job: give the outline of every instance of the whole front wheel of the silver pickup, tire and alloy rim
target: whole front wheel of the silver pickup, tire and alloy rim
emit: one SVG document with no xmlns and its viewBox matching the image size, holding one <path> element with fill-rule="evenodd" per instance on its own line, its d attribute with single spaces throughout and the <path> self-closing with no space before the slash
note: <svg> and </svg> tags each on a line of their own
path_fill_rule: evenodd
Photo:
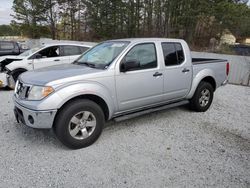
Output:
<svg viewBox="0 0 250 188">
<path fill-rule="evenodd" d="M 99 105 L 88 99 L 78 99 L 59 111 L 53 128 L 65 146 L 80 149 L 99 138 L 104 123 L 104 113 Z"/>
</svg>

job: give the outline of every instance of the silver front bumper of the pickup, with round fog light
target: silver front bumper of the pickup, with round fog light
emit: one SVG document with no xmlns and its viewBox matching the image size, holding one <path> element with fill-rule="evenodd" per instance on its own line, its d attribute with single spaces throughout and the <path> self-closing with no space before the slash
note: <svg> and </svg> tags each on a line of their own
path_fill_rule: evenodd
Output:
<svg viewBox="0 0 250 188">
<path fill-rule="evenodd" d="M 18 123 L 38 129 L 52 128 L 57 110 L 31 110 L 14 101 L 14 114 Z"/>
</svg>

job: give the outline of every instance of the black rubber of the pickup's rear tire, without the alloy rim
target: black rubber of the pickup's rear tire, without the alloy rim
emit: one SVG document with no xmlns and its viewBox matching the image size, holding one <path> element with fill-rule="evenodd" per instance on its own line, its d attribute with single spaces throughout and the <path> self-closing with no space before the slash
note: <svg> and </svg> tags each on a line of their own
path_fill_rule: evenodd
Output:
<svg viewBox="0 0 250 188">
<path fill-rule="evenodd" d="M 204 89 L 208 89 L 209 92 L 210 92 L 210 98 L 209 98 L 209 102 L 206 106 L 201 106 L 200 103 L 199 103 L 199 99 L 201 97 L 201 92 L 204 90 Z M 214 89 L 212 87 L 212 85 L 208 82 L 201 82 L 195 93 L 194 93 L 194 96 L 193 98 L 191 99 L 190 101 L 190 105 L 191 105 L 191 109 L 197 111 L 197 112 L 205 112 L 208 110 L 208 108 L 211 106 L 212 104 L 212 101 L 213 101 L 213 95 L 214 95 Z"/>
</svg>

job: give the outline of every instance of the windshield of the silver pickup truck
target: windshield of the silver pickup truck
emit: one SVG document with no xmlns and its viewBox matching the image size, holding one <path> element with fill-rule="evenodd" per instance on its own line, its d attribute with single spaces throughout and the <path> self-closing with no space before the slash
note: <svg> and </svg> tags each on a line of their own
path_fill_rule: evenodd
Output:
<svg viewBox="0 0 250 188">
<path fill-rule="evenodd" d="M 106 69 L 128 44 L 120 41 L 103 42 L 80 56 L 74 64 Z"/>
</svg>

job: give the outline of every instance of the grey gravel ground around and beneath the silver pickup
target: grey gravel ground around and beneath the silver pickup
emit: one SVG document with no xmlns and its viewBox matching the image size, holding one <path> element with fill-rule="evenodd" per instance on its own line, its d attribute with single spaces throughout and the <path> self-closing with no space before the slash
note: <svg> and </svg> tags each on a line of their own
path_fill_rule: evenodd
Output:
<svg viewBox="0 0 250 188">
<path fill-rule="evenodd" d="M 18 125 L 0 91 L 0 187 L 250 187 L 250 87 L 227 85 L 211 108 L 110 122 L 92 146 L 65 148 Z"/>
</svg>

